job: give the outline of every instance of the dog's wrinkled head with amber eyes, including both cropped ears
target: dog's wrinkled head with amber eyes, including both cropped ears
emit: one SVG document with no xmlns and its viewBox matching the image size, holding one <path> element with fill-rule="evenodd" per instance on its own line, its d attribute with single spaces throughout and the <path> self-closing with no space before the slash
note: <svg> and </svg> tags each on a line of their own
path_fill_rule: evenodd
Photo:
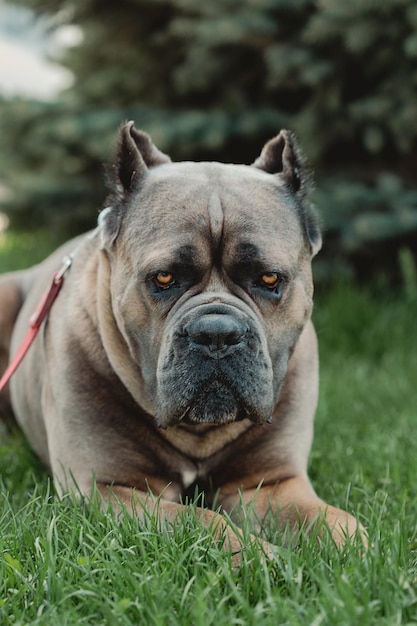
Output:
<svg viewBox="0 0 417 626">
<path fill-rule="evenodd" d="M 255 165 L 172 164 L 122 130 L 111 299 L 162 427 L 267 420 L 310 316 L 320 240 L 290 136 Z"/>
</svg>

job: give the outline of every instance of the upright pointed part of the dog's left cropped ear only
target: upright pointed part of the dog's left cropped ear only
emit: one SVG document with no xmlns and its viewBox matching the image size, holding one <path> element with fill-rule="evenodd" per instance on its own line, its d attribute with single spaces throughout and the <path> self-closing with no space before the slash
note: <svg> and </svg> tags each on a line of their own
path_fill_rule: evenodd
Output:
<svg viewBox="0 0 417 626">
<path fill-rule="evenodd" d="M 133 122 L 126 122 L 120 128 L 114 175 L 116 185 L 124 192 L 131 192 L 136 182 L 149 167 L 169 163 L 171 159 L 160 152 L 147 133 L 136 130 Z"/>
</svg>

